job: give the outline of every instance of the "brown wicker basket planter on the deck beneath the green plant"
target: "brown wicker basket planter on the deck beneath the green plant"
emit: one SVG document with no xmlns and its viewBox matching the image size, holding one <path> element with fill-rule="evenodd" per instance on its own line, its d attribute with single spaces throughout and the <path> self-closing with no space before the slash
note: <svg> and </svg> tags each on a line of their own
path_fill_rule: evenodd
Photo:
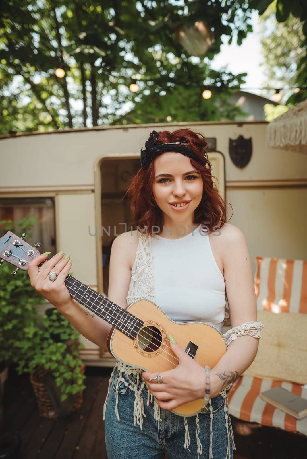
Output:
<svg viewBox="0 0 307 459">
<path fill-rule="evenodd" d="M 80 373 L 83 375 L 84 371 L 85 365 L 82 365 Z M 71 395 L 68 397 L 68 401 L 61 402 L 58 396 L 59 394 L 56 393 L 55 398 L 52 397 L 50 391 L 47 390 L 44 382 L 46 376 L 49 377 L 49 380 L 52 380 L 51 373 L 42 367 L 37 367 L 33 373 L 30 373 L 30 381 L 34 389 L 40 416 L 48 419 L 57 419 L 74 413 L 74 411 L 80 408 L 83 400 L 83 391 Z M 61 406 L 61 409 L 58 408 L 59 406 Z"/>
</svg>

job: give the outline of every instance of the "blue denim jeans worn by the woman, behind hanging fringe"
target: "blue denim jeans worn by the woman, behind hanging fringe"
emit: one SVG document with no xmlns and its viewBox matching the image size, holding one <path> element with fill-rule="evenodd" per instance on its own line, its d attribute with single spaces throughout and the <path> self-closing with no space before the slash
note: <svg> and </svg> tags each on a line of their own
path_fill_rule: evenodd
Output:
<svg viewBox="0 0 307 459">
<path fill-rule="evenodd" d="M 129 382 L 124 373 L 123 378 Z M 135 394 L 125 386 L 124 382 L 118 387 L 118 411 L 120 421 L 115 414 L 115 388 L 119 378 L 116 369 L 112 378 L 105 418 L 105 442 L 108 459 L 163 459 L 165 452 L 171 459 L 206 458 L 209 459 L 210 448 L 210 413 L 199 413 L 199 440 L 203 450 L 197 453 L 196 416 L 187 417 L 190 436 L 189 450 L 184 448 L 185 425 L 184 417 L 178 416 L 169 410 L 160 409 L 160 421 L 153 417 L 153 403 L 147 406 L 148 389 L 142 390 L 144 416 L 142 430 L 134 425 L 133 409 Z M 130 380 L 136 383 L 136 375 L 130 375 Z M 139 386 L 142 381 L 140 381 Z M 140 388 L 138 386 L 138 388 Z M 212 454 L 213 459 L 225 459 L 227 452 L 227 430 L 230 438 L 230 448 L 227 459 L 233 459 L 233 447 L 230 437 L 229 415 L 224 412 L 224 398 L 221 395 L 211 399 L 212 414 Z M 225 421 L 228 417 L 228 428 Z"/>
</svg>

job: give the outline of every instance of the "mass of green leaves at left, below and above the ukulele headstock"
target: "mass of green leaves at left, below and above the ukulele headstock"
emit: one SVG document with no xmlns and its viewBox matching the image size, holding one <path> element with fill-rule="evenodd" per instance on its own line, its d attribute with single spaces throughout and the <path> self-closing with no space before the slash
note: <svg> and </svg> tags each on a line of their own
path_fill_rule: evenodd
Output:
<svg viewBox="0 0 307 459">
<path fill-rule="evenodd" d="M 4 229 L 17 234 L 20 229 L 27 229 L 28 235 L 34 223 L 35 220 L 25 218 L 17 222 L 17 229 L 11 221 L 0 222 Z M 1 361 L 15 364 L 18 374 L 31 373 L 36 367 L 51 371 L 65 394 L 83 390 L 85 376 L 80 374 L 83 362 L 79 350 L 84 345 L 79 342 L 79 333 L 56 308 L 51 309 L 50 317 L 44 314 L 41 319 L 34 304 L 44 304 L 45 298 L 31 286 L 27 271 L 18 271 L 18 277 L 12 277 L 11 271 L 11 265 L 3 263 L 0 276 Z"/>
</svg>

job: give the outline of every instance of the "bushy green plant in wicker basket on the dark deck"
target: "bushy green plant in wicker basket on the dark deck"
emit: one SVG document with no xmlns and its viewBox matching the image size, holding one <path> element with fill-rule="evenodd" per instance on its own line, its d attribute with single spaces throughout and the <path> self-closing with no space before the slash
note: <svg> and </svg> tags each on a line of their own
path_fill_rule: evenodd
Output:
<svg viewBox="0 0 307 459">
<path fill-rule="evenodd" d="M 25 339 L 17 342 L 20 348 L 17 372 L 30 373 L 30 381 L 39 405 L 40 415 L 63 417 L 82 403 L 85 389 L 84 370 L 79 350 L 79 333 L 65 317 L 51 308 L 36 323 L 25 329 Z M 49 313 L 51 312 L 51 313 Z"/>
</svg>

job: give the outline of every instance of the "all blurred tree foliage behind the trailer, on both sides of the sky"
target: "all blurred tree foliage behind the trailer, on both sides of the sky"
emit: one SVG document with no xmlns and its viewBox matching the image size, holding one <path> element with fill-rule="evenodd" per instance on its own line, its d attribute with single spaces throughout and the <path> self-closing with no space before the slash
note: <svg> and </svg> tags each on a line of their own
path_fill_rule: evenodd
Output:
<svg viewBox="0 0 307 459">
<path fill-rule="evenodd" d="M 244 83 L 246 73 L 218 72 L 210 68 L 210 61 L 220 51 L 222 35 L 229 43 L 236 40 L 240 45 L 252 32 L 252 11 L 262 15 L 271 3 L 2 0 L 0 134 L 109 124 L 234 120 L 242 112 L 228 102 L 228 97 Z M 292 77 L 296 85 L 306 87 L 304 2 L 275 0 L 266 14 L 275 22 L 284 22 L 287 30 L 295 29 L 301 52 L 294 59 Z M 205 22 L 212 38 L 202 56 L 189 54 L 178 40 L 178 30 L 197 21 Z M 295 24 L 290 25 L 293 21 L 299 23 L 297 30 Z M 275 53 L 273 61 L 278 67 L 281 62 L 276 41 L 281 41 L 279 33 L 270 35 L 265 46 L 267 56 Z M 289 39 L 286 51 L 283 43 L 281 46 L 284 65 L 289 67 L 292 58 L 288 50 L 293 44 Z M 64 78 L 56 76 L 57 68 L 63 68 Z M 134 79 L 139 85 L 136 93 L 129 89 Z M 214 91 L 210 100 L 204 101 L 201 95 L 207 85 L 214 86 Z M 300 91 L 290 96 L 290 102 L 304 98 L 306 91 Z"/>
</svg>

